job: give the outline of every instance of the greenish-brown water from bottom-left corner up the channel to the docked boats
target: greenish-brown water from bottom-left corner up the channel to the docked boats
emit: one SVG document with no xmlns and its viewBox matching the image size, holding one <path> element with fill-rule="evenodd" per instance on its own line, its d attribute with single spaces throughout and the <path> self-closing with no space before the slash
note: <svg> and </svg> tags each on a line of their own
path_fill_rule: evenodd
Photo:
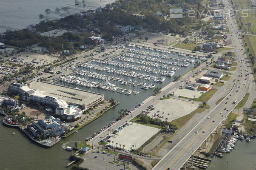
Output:
<svg viewBox="0 0 256 170">
<path fill-rule="evenodd" d="M 174 55 L 174 54 L 173 54 Z M 175 76 L 184 74 L 193 67 L 190 64 L 187 68 L 181 68 L 176 72 Z M 159 76 L 160 77 L 160 76 Z M 163 83 L 155 83 L 156 87 L 164 87 L 173 81 L 173 78 L 167 78 Z M 81 88 L 81 87 L 80 87 Z M 116 92 L 105 91 L 97 88 L 88 88 L 87 90 L 105 94 L 105 98 L 112 97 L 120 102 L 115 108 L 107 111 L 99 119 L 94 120 L 87 126 L 74 133 L 67 139 L 54 145 L 52 148 L 43 148 L 34 144 L 27 136 L 16 128 L 6 127 L 1 123 L 0 125 L 0 170 L 63 170 L 68 163 L 68 157 L 73 152 L 68 152 L 63 149 L 63 144 L 70 142 L 67 146 L 74 146 L 75 141 L 82 141 L 88 136 L 91 136 L 95 131 L 102 128 L 108 122 L 116 119 L 118 111 L 123 109 L 130 109 L 137 103 L 142 102 L 153 94 L 153 89 L 141 90 L 141 93 L 129 96 L 118 94 Z M 3 117 L 0 116 L 0 119 Z M 2 122 L 2 121 L 1 121 Z M 11 135 L 15 132 L 16 135 Z"/>
</svg>

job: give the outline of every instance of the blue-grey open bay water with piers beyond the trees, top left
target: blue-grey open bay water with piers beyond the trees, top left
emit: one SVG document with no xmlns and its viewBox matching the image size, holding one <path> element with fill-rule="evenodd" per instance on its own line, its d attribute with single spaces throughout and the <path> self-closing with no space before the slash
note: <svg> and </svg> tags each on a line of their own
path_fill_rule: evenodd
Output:
<svg viewBox="0 0 256 170">
<path fill-rule="evenodd" d="M 100 0 L 86 1 L 100 2 Z M 74 5 L 74 0 L 0 0 L 0 26 L 26 28 L 43 20 L 38 17 L 39 14 L 60 18 L 57 14 L 46 14 L 45 9 L 50 8 L 54 11 L 56 7 L 63 7 L 66 4 Z M 6 28 L 0 27 L 0 32 L 5 31 Z"/>
</svg>

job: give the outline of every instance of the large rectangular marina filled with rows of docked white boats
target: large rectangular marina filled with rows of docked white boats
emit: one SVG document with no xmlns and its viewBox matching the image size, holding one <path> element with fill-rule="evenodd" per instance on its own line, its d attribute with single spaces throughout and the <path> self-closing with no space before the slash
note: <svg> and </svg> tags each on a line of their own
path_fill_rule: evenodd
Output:
<svg viewBox="0 0 256 170">
<path fill-rule="evenodd" d="M 195 61 L 201 59 L 193 55 L 131 44 L 123 52 L 108 61 L 92 59 L 77 68 L 71 68 L 75 73 L 61 77 L 57 84 L 88 91 L 94 91 L 94 88 L 137 95 L 159 87 L 165 81 L 171 82 L 171 78 L 174 79 L 184 70 L 194 67 Z"/>
</svg>

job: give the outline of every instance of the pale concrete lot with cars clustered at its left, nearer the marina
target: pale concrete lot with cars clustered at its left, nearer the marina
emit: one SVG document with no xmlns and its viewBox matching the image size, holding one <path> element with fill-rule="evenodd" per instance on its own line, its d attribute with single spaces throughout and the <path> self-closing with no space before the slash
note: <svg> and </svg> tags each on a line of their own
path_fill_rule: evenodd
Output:
<svg viewBox="0 0 256 170">
<path fill-rule="evenodd" d="M 158 114 L 159 116 L 163 116 L 163 118 L 159 117 L 159 119 L 165 120 L 167 118 L 167 121 L 171 122 L 174 119 L 191 113 L 198 108 L 198 104 L 171 98 L 157 101 L 154 103 L 154 108 L 155 110 L 148 113 L 148 116 L 152 117 L 154 113 L 160 110 Z M 168 115 L 168 113 L 170 114 Z M 157 118 L 157 116 L 153 118 Z"/>
</svg>

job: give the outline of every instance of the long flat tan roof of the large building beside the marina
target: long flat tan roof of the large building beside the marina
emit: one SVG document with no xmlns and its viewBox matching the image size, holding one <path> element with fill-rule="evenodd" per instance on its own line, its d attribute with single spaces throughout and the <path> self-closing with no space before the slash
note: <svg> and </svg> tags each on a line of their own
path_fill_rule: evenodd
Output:
<svg viewBox="0 0 256 170">
<path fill-rule="evenodd" d="M 34 89 L 38 94 L 53 96 L 55 98 L 60 98 L 65 102 L 78 105 L 87 105 L 88 103 L 102 97 L 102 94 L 74 89 L 48 82 L 34 81 L 30 83 L 29 87 Z"/>
</svg>

